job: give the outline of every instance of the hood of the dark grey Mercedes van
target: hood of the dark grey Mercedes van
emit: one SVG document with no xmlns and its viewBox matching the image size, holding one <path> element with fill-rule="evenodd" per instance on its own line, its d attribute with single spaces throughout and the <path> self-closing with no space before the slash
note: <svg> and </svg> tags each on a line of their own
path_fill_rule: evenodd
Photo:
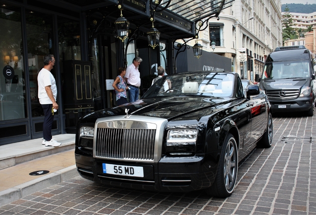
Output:
<svg viewBox="0 0 316 215">
<path fill-rule="evenodd" d="M 276 79 L 276 80 L 264 80 L 260 82 L 260 88 L 266 91 L 270 90 L 299 90 L 309 80 L 305 78 L 300 79 Z"/>
</svg>

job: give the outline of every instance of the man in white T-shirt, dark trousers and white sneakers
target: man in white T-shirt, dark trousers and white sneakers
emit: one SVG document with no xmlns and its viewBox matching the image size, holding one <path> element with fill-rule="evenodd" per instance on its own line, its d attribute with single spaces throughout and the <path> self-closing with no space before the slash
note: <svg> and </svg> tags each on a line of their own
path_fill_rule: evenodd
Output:
<svg viewBox="0 0 316 215">
<path fill-rule="evenodd" d="M 52 124 L 54 112 L 58 110 L 57 87 L 54 76 L 51 73 L 55 65 L 54 55 L 48 54 L 44 57 L 44 67 L 38 73 L 38 99 L 44 110 L 43 142 L 45 146 L 60 146 L 61 143 L 52 138 Z"/>
</svg>

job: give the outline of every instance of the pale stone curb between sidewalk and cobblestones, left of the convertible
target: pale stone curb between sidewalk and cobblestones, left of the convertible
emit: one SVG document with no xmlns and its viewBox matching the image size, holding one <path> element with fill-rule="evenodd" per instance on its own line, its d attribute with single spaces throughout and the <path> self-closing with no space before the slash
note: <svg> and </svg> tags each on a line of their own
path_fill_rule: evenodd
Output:
<svg viewBox="0 0 316 215">
<path fill-rule="evenodd" d="M 0 207 L 52 185 L 79 176 L 76 164 L 0 192 Z"/>
</svg>

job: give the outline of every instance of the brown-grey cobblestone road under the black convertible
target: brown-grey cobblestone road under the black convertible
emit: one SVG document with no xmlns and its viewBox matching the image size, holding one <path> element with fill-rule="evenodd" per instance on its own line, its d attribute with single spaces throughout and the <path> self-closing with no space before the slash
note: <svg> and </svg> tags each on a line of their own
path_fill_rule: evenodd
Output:
<svg viewBox="0 0 316 215">
<path fill-rule="evenodd" d="M 274 117 L 272 147 L 256 148 L 239 163 L 236 190 L 226 199 L 208 197 L 203 191 L 121 189 L 76 177 L 5 205 L 0 214 L 316 215 L 313 118 Z"/>
</svg>

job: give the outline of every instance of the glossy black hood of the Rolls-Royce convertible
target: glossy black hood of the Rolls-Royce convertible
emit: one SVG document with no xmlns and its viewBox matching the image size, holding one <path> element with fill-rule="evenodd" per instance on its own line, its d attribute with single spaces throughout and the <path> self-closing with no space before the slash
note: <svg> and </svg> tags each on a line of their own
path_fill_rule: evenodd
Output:
<svg viewBox="0 0 316 215">
<path fill-rule="evenodd" d="M 191 119 L 197 119 L 197 112 L 199 110 L 204 110 L 214 112 L 219 111 L 232 102 L 231 99 L 223 98 L 210 98 L 210 97 L 156 97 L 153 99 L 138 100 L 134 103 L 127 103 L 122 106 L 115 108 L 107 108 L 98 110 L 80 118 L 80 123 L 95 122 L 96 119 L 106 116 L 115 115 L 126 115 L 126 110 L 128 114 L 131 115 L 143 115 L 143 116 L 153 116 L 159 118 L 165 118 L 172 120 L 174 118 L 180 119 L 181 117 L 192 117 Z M 205 112 L 204 112 L 205 114 Z"/>
</svg>

